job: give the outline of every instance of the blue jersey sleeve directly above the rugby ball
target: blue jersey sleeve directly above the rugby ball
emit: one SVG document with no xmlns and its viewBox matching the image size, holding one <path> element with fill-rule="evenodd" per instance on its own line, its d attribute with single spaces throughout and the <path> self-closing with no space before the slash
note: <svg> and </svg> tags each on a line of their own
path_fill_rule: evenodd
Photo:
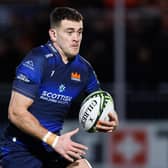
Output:
<svg viewBox="0 0 168 168">
<path fill-rule="evenodd" d="M 91 93 L 96 90 L 100 89 L 100 83 L 97 79 L 97 75 L 94 71 L 94 69 L 89 66 L 89 73 L 88 73 L 88 81 L 87 81 L 87 87 L 86 87 L 86 92 Z"/>
</svg>

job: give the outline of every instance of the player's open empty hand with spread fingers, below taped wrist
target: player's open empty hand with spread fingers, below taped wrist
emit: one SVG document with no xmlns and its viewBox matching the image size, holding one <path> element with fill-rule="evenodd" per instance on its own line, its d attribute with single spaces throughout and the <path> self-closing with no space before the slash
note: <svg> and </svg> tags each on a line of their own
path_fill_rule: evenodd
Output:
<svg viewBox="0 0 168 168">
<path fill-rule="evenodd" d="M 85 151 L 88 149 L 86 146 L 71 140 L 71 137 L 78 131 L 79 128 L 76 128 L 73 131 L 61 135 L 54 148 L 56 152 L 71 162 L 76 159 L 81 159 L 81 155 L 84 155 Z"/>
</svg>

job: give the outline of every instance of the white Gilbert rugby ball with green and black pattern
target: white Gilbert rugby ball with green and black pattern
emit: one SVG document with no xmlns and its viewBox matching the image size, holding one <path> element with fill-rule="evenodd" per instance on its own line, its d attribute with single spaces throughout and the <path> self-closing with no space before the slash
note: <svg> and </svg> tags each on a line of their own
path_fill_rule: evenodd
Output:
<svg viewBox="0 0 168 168">
<path fill-rule="evenodd" d="M 87 132 L 98 132 L 99 120 L 109 120 L 108 113 L 114 111 L 113 98 L 107 91 L 98 90 L 89 94 L 81 103 L 79 125 Z"/>
</svg>

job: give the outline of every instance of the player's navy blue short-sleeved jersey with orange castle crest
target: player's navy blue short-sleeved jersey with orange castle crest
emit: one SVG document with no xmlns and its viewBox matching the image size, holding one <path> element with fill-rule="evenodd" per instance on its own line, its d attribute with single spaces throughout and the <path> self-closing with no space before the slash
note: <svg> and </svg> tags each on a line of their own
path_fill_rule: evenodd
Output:
<svg viewBox="0 0 168 168">
<path fill-rule="evenodd" d="M 29 111 L 52 132 L 81 92 L 99 89 L 91 65 L 80 55 L 65 64 L 51 42 L 34 48 L 16 68 L 13 90 L 34 100 Z"/>
</svg>

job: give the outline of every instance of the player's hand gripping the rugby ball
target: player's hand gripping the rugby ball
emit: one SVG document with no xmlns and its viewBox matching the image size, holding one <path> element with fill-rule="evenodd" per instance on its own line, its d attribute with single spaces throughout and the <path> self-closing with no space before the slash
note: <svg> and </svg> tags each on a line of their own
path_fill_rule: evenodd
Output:
<svg viewBox="0 0 168 168">
<path fill-rule="evenodd" d="M 119 121 L 116 112 L 110 112 L 109 114 L 109 121 L 102 121 L 99 120 L 96 129 L 100 132 L 113 132 L 116 130 Z"/>
</svg>

